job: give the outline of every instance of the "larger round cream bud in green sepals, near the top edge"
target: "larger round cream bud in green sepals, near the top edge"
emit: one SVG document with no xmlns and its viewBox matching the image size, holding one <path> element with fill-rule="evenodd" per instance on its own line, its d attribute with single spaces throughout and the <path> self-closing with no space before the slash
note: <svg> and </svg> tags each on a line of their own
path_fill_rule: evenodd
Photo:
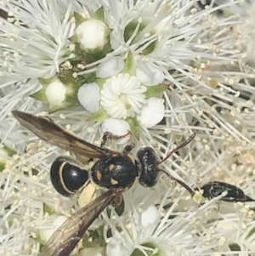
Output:
<svg viewBox="0 0 255 256">
<path fill-rule="evenodd" d="M 103 48 L 108 43 L 109 28 L 101 20 L 90 18 L 77 26 L 75 35 L 82 48 L 91 53 L 97 48 Z"/>
</svg>

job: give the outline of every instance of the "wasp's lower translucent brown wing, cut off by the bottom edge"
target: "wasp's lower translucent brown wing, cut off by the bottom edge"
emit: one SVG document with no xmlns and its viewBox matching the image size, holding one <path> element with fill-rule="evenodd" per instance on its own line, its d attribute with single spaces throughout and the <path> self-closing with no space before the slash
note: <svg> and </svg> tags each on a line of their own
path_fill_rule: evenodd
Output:
<svg viewBox="0 0 255 256">
<path fill-rule="evenodd" d="M 38 256 L 68 256 L 80 241 L 84 232 L 100 213 L 113 202 L 121 192 L 112 190 L 99 196 L 87 206 L 73 214 L 49 238 Z"/>
</svg>

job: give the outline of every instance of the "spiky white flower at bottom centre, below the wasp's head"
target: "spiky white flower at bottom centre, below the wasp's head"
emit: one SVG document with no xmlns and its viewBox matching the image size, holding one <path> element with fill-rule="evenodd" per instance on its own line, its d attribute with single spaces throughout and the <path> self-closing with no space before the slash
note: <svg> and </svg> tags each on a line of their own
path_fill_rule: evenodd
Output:
<svg viewBox="0 0 255 256">
<path fill-rule="evenodd" d="M 117 220 L 117 228 L 111 228 L 113 236 L 106 247 L 107 256 L 130 256 L 134 251 L 137 255 L 155 253 L 161 256 L 203 255 L 210 251 L 210 246 L 206 244 L 207 237 L 199 236 L 196 232 L 200 232 L 199 225 L 202 225 L 202 218 L 205 218 L 212 202 L 207 203 L 203 208 L 196 208 L 196 212 L 188 209 L 186 213 L 175 214 L 176 211 L 178 212 L 178 204 L 181 204 L 178 196 L 170 200 L 171 206 L 165 212 L 163 207 L 169 196 L 168 192 L 161 199 L 158 208 L 155 205 L 144 206 L 145 202 L 150 202 L 150 193 L 148 197 L 144 197 L 144 202 L 140 202 L 139 206 L 135 205 L 133 197 L 125 197 L 125 206 L 128 206 L 129 213 L 121 217 L 112 216 L 112 219 Z M 186 200 L 184 204 L 190 207 Z M 197 230 L 194 221 L 198 225 Z M 215 241 L 217 241 L 216 236 L 211 239 L 211 242 Z"/>
</svg>

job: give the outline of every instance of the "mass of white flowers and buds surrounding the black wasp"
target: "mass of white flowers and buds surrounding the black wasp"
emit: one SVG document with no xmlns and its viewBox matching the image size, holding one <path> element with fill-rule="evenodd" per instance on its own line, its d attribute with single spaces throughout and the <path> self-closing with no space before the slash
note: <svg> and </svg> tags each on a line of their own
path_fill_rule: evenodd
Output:
<svg viewBox="0 0 255 256">
<path fill-rule="evenodd" d="M 161 168 L 192 188 L 223 180 L 255 198 L 254 8 L 248 0 L 3 0 L 0 254 L 37 255 L 81 208 L 49 181 L 63 151 L 37 143 L 14 109 L 43 111 L 95 145 L 110 131 L 122 137 L 111 147 L 134 142 L 134 156 L 151 146 L 164 157 L 196 132 Z M 153 188 L 134 185 L 124 209 L 102 213 L 75 253 L 254 253 L 249 205 L 215 210 L 220 196 L 198 205 L 201 195 L 194 202 L 184 193 L 163 174 Z"/>
</svg>

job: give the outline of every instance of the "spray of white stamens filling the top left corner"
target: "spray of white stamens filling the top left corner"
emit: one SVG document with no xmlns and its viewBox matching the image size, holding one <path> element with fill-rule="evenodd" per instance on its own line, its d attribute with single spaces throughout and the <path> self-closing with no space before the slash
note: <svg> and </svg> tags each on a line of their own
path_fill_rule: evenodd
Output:
<svg viewBox="0 0 255 256">
<path fill-rule="evenodd" d="M 13 26 L 12 20 L 2 20 L 0 29 L 1 32 L 6 31 L 0 45 L 5 56 L 9 56 L 1 69 L 6 77 L 4 82 L 53 77 L 59 71 L 59 65 L 70 59 L 68 38 L 75 26 L 73 20 L 69 20 L 71 5 L 52 3 L 49 6 L 48 9 L 48 5 L 37 1 L 26 2 L 26 9 L 22 9 L 22 4 L 20 9 L 13 3 L 5 6 L 7 12 L 12 9 L 16 21 Z M 34 14 L 37 14 L 37 19 Z"/>
</svg>

